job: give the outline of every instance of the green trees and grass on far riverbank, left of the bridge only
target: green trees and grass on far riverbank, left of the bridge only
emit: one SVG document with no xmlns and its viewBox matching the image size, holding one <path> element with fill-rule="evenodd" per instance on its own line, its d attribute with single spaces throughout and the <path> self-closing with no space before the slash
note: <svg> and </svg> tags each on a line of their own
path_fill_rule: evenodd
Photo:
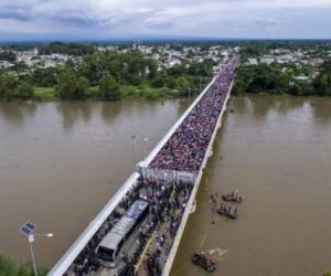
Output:
<svg viewBox="0 0 331 276">
<path fill-rule="evenodd" d="M 67 53 L 75 46 L 53 43 L 45 51 Z M 214 65 L 213 61 L 205 60 L 158 71 L 157 62 L 139 52 L 89 53 L 90 46 L 77 47 L 87 53 L 82 62 L 68 60 L 64 66 L 35 70 L 20 77 L 0 72 L 0 99 L 119 100 L 124 97 L 186 96 L 189 88 L 192 94 L 203 88 L 211 79 Z"/>
</svg>

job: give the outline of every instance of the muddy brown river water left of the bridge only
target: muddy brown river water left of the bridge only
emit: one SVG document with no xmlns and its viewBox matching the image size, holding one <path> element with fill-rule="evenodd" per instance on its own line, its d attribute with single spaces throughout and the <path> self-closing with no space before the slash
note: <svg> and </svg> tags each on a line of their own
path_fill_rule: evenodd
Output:
<svg viewBox="0 0 331 276">
<path fill-rule="evenodd" d="M 184 112 L 186 100 L 0 103 L 0 252 L 52 265 Z M 130 136 L 137 136 L 132 150 Z"/>
</svg>

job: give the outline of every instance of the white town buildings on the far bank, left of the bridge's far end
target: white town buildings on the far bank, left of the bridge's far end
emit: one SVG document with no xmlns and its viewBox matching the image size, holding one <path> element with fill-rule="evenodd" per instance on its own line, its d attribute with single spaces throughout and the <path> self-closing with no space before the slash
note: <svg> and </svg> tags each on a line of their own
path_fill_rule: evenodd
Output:
<svg viewBox="0 0 331 276">
<path fill-rule="evenodd" d="M 49 68 L 63 66 L 65 62 L 72 60 L 76 63 L 83 61 L 79 55 L 62 54 L 62 53 L 41 53 L 39 46 L 29 49 L 26 45 L 25 51 L 13 50 L 11 46 L 0 47 L 0 67 L 8 70 L 13 75 L 26 75 L 34 70 Z M 141 42 L 134 42 L 132 44 L 125 45 L 92 45 L 93 52 L 140 52 L 148 59 L 153 59 L 158 62 L 158 71 L 163 68 L 171 68 L 175 65 L 186 64 L 194 62 L 203 62 L 210 59 L 215 63 L 221 62 L 224 57 L 234 52 L 238 52 L 239 47 L 227 47 L 222 45 L 216 46 L 194 46 L 181 44 L 164 44 L 164 45 L 148 45 Z M 216 71 L 217 67 L 214 67 Z"/>
</svg>

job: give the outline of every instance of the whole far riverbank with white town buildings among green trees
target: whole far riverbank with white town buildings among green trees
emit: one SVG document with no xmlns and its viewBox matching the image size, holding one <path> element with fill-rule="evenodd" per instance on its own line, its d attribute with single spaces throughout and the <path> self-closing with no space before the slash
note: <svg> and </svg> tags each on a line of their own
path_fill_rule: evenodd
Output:
<svg viewBox="0 0 331 276">
<path fill-rule="evenodd" d="M 132 96 L 194 95 L 220 70 L 220 64 L 236 53 L 241 54 L 242 63 L 235 93 L 330 94 L 329 85 L 321 88 L 323 64 L 331 59 L 328 42 L 151 43 L 138 40 L 125 44 L 2 45 L 0 76 L 12 75 L 18 78 L 18 85 L 13 89 L 17 92 L 10 93 L 2 87 L 0 97 L 118 100 Z M 105 85 L 100 85 L 105 75 L 110 75 L 110 81 L 103 79 Z M 256 86 L 257 76 L 264 76 L 265 82 Z M 109 83 L 113 84 L 109 93 L 100 88 Z"/>
</svg>

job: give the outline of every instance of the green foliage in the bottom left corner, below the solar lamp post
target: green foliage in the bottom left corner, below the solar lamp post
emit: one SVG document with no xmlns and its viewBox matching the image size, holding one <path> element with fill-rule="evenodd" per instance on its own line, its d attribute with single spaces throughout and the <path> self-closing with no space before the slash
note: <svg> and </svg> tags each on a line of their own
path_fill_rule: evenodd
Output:
<svg viewBox="0 0 331 276">
<path fill-rule="evenodd" d="M 46 276 L 47 269 L 38 268 L 38 275 Z M 17 265 L 8 257 L 0 255 L 0 275 L 1 276 L 33 276 L 32 267 L 28 265 Z"/>
</svg>

